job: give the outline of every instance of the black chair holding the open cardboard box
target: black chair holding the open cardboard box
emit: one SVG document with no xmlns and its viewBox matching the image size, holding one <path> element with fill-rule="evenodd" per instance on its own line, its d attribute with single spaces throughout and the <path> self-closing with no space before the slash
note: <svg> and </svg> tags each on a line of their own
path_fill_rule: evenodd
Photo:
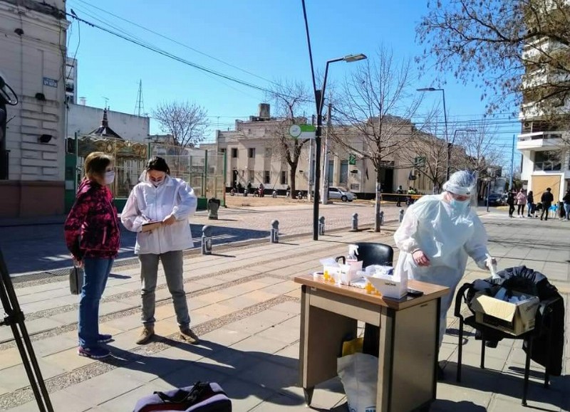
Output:
<svg viewBox="0 0 570 412">
<path fill-rule="evenodd" d="M 506 332 L 502 332 L 498 329 L 494 329 L 492 327 L 488 327 L 485 324 L 481 324 L 475 321 L 475 315 L 470 315 L 468 317 L 463 317 L 461 314 L 461 303 L 467 303 L 467 292 L 471 289 L 472 283 L 465 283 L 460 287 L 455 295 L 455 317 L 459 318 L 459 348 L 457 350 L 457 382 L 461 381 L 461 367 L 462 367 L 462 356 L 463 356 L 463 329 L 465 325 L 476 329 L 481 337 L 481 369 L 484 369 L 485 364 L 485 346 L 487 342 L 493 342 L 500 339 L 519 339 L 523 340 L 525 343 L 525 347 L 527 348 L 527 358 L 524 363 L 524 381 L 523 381 L 523 391 L 522 391 L 522 406 L 527 406 L 527 392 L 529 389 L 529 371 L 530 371 L 530 354 L 532 352 L 532 343 L 534 339 L 538 337 L 544 336 L 545 333 L 548 334 L 548 346 L 551 346 L 551 339 L 552 339 L 552 328 L 546 327 L 547 324 L 551 324 L 551 319 L 549 317 L 552 316 L 552 305 L 554 302 L 559 300 L 558 297 L 550 299 L 550 300 L 543 300 L 540 302 L 539 310 L 537 310 L 537 314 L 541 314 L 540 316 L 537 315 L 537 324 L 535 324 L 534 329 L 529 330 L 529 332 L 525 332 L 524 334 L 520 334 L 518 336 L 514 336 L 512 334 L 508 334 Z M 550 365 L 550 356 L 549 353 L 546 354 L 546 365 Z M 546 371 L 544 373 L 544 388 L 548 388 L 549 386 L 549 368 L 546 367 Z"/>
</svg>

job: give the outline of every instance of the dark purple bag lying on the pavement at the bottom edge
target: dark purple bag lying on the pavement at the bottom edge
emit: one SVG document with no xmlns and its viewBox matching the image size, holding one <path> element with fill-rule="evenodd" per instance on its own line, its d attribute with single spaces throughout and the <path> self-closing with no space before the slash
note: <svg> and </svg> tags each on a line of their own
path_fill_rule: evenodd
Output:
<svg viewBox="0 0 570 412">
<path fill-rule="evenodd" d="M 134 412 L 232 412 L 232 401 L 215 383 L 197 382 L 172 391 L 155 392 L 139 399 Z"/>
</svg>

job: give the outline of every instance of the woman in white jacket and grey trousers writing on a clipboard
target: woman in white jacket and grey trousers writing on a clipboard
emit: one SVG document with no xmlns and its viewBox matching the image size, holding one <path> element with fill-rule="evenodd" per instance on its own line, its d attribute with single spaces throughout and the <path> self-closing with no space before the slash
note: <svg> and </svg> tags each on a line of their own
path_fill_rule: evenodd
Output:
<svg viewBox="0 0 570 412">
<path fill-rule="evenodd" d="M 188 218 L 196 211 L 196 206 L 197 199 L 190 185 L 171 177 L 170 168 L 162 157 L 149 160 L 145 173 L 140 176 L 140 183 L 130 192 L 121 221 L 125 228 L 137 233 L 135 253 L 140 261 L 143 325 L 137 344 L 145 344 L 155 334 L 159 260 L 172 295 L 180 337 L 190 343 L 199 340 L 190 329 L 182 276 L 182 250 L 193 245 Z M 147 230 L 149 228 L 152 230 Z"/>
</svg>

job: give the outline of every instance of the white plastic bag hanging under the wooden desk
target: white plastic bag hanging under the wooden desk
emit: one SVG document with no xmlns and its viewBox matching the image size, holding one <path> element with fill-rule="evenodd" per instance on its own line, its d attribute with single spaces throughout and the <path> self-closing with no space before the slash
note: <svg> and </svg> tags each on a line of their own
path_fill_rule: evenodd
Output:
<svg viewBox="0 0 570 412">
<path fill-rule="evenodd" d="M 338 358 L 336 371 L 344 386 L 351 412 L 376 412 L 378 358 L 368 354 L 351 354 Z"/>
</svg>

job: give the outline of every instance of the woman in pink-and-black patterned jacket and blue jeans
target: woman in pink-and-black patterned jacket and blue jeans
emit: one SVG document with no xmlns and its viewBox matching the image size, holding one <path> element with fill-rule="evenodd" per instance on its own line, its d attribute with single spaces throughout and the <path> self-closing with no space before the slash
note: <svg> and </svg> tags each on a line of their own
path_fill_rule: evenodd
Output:
<svg viewBox="0 0 570 412">
<path fill-rule="evenodd" d="M 113 337 L 99 333 L 99 302 L 120 247 L 117 210 L 107 187 L 115 180 L 115 169 L 113 157 L 103 152 L 90 153 L 83 167 L 85 179 L 78 187 L 64 232 L 73 265 L 83 267 L 84 271 L 77 352 L 80 356 L 102 359 L 109 356 L 110 351 L 101 344 L 110 342 Z"/>
</svg>

